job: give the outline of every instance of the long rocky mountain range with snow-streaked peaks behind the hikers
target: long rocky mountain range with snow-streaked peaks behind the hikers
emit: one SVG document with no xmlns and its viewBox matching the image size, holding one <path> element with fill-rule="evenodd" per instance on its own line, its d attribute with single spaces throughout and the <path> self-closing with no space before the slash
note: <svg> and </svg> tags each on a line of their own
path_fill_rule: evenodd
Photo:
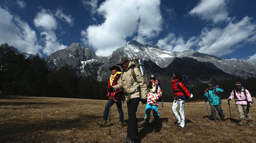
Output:
<svg viewBox="0 0 256 143">
<path fill-rule="evenodd" d="M 219 81 L 237 76 L 256 77 L 256 64 L 245 60 L 226 60 L 196 51 L 170 52 L 158 46 L 141 44 L 135 40 L 124 45 L 107 57 L 96 56 L 90 47 L 73 43 L 45 58 L 51 69 L 69 65 L 83 77 L 106 81 L 108 67 L 127 56 L 144 60 L 148 76 L 155 74 L 161 80 L 169 80 L 174 72 L 188 75 L 195 83 L 209 80 Z"/>
</svg>

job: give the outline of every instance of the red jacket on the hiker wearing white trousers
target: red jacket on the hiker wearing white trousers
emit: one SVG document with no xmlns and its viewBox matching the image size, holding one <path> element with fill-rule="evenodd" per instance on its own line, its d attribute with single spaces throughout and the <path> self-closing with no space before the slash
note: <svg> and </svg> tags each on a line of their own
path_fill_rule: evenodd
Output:
<svg viewBox="0 0 256 143">
<path fill-rule="evenodd" d="M 183 91 L 181 91 L 179 89 L 179 87 L 177 87 L 177 82 L 179 82 L 179 86 L 181 87 L 181 89 Z M 187 90 L 187 88 L 182 84 L 182 82 L 179 79 L 176 79 L 176 80 L 172 79 L 172 85 L 173 85 L 173 92 L 174 92 L 175 98 L 184 100 L 185 96 L 190 97 L 189 91 Z M 186 95 L 184 95 L 184 93 Z"/>
</svg>

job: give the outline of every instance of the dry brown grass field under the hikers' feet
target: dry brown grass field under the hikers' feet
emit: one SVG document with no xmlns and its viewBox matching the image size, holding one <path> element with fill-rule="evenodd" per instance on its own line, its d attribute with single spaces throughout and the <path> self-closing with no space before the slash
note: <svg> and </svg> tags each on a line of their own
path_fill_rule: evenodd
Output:
<svg viewBox="0 0 256 143">
<path fill-rule="evenodd" d="M 136 142 L 256 142 L 254 127 L 239 126 L 237 109 L 222 100 L 227 121 L 208 121 L 204 101 L 185 104 L 186 128 L 175 126 L 172 103 L 159 106 L 160 123 L 151 118 L 143 125 L 145 105 L 137 111 L 139 138 Z M 254 101 L 255 98 L 254 98 Z M 123 104 L 124 127 L 117 129 L 119 113 L 111 108 L 111 129 L 99 127 L 106 100 L 0 96 L 0 142 L 122 142 L 126 139 L 127 108 Z M 256 103 L 250 108 L 256 118 Z M 210 107 L 208 105 L 208 109 Z M 217 113 L 218 116 L 218 113 Z M 153 117 L 153 116 L 152 116 Z M 218 116 L 219 117 L 219 116 Z M 109 125 L 109 122 L 107 123 Z M 109 135 L 111 131 L 111 135 Z"/>
</svg>

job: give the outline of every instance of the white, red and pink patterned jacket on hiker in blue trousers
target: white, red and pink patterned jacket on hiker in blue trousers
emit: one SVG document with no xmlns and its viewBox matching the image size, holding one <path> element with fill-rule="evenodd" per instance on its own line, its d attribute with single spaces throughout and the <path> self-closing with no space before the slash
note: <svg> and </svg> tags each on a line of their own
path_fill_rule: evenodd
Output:
<svg viewBox="0 0 256 143">
<path fill-rule="evenodd" d="M 156 87 L 158 88 L 157 92 L 156 92 Z M 152 88 L 147 88 L 147 104 L 158 105 L 157 100 L 161 97 L 162 97 L 162 90 L 158 85 L 158 81 L 155 80 L 154 82 L 152 82 Z"/>
</svg>

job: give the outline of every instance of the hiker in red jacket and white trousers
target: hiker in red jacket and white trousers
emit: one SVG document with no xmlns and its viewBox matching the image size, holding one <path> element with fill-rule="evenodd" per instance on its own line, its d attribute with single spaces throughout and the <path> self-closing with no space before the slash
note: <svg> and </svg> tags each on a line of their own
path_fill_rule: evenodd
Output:
<svg viewBox="0 0 256 143">
<path fill-rule="evenodd" d="M 185 128 L 185 98 L 192 98 L 193 94 L 190 94 L 187 88 L 183 85 L 180 73 L 174 73 L 171 81 L 174 92 L 172 110 L 177 120 L 176 126 Z M 178 107 L 179 112 L 177 111 Z"/>
</svg>

